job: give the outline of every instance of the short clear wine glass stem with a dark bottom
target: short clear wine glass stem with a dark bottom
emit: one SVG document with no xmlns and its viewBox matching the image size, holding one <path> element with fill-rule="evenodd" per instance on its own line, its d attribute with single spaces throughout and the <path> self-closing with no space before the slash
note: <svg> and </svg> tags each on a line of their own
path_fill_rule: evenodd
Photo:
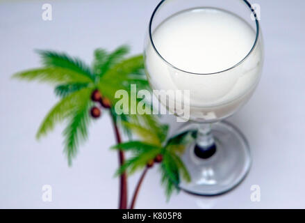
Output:
<svg viewBox="0 0 305 223">
<path fill-rule="evenodd" d="M 212 157 L 216 152 L 211 124 L 200 124 L 197 132 L 195 155 L 202 159 Z"/>
</svg>

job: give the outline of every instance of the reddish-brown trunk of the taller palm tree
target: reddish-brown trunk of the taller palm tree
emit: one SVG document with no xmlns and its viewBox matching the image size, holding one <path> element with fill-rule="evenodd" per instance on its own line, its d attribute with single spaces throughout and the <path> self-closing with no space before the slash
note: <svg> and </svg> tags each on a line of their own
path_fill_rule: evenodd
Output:
<svg viewBox="0 0 305 223">
<path fill-rule="evenodd" d="M 115 130 L 115 137 L 117 140 L 117 144 L 122 142 L 121 136 L 119 134 L 119 130 L 117 128 L 117 124 L 115 123 L 115 117 L 112 115 L 113 119 L 113 128 Z M 118 151 L 119 154 L 119 165 L 122 166 L 125 162 L 124 152 Z M 127 208 L 127 174 L 124 172 L 120 177 L 120 188 L 119 188 L 119 209 Z"/>
</svg>

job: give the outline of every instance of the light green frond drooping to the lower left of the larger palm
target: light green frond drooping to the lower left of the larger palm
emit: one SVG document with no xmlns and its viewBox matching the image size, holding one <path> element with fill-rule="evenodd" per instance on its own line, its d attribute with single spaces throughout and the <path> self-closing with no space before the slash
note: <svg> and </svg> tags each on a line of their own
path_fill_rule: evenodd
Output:
<svg viewBox="0 0 305 223">
<path fill-rule="evenodd" d="M 86 100 L 90 100 L 90 94 L 92 89 L 81 89 L 71 93 L 67 97 L 61 99 L 47 114 L 40 125 L 40 128 L 36 134 L 36 137 L 39 139 L 43 135 L 46 135 L 47 132 L 53 130 L 56 123 L 63 121 L 68 116 L 74 114 L 77 111 L 79 103 Z"/>
</svg>

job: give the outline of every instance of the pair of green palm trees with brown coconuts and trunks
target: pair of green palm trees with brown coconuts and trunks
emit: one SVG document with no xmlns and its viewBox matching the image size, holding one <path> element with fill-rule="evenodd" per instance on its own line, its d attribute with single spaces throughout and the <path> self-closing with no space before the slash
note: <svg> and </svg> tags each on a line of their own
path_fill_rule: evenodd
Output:
<svg viewBox="0 0 305 223">
<path fill-rule="evenodd" d="M 64 153 L 68 164 L 76 157 L 79 145 L 88 138 L 88 128 L 92 120 L 102 113 L 110 114 L 117 141 L 119 154 L 120 194 L 119 208 L 127 207 L 127 173 L 144 168 L 135 190 L 131 208 L 134 207 L 141 182 L 154 162 L 160 162 L 162 182 L 165 185 L 167 197 L 179 184 L 179 174 L 186 180 L 190 179 L 183 162 L 176 155 L 183 149 L 188 132 L 172 139 L 167 139 L 167 126 L 160 125 L 156 116 L 149 114 L 118 114 L 115 97 L 118 90 L 129 91 L 131 84 L 136 84 L 136 93 L 141 89 L 149 89 L 145 79 L 143 56 L 126 58 L 129 47 L 123 45 L 113 52 L 105 49 L 94 51 L 92 66 L 86 65 L 80 59 L 65 53 L 39 50 L 43 66 L 24 72 L 18 72 L 13 77 L 28 81 L 45 82 L 55 85 L 54 92 L 59 101 L 54 105 L 42 121 L 37 132 L 37 139 L 49 133 L 56 124 L 67 121 L 63 131 L 65 138 Z M 130 95 L 127 100 L 131 100 Z M 138 99 L 136 103 L 138 104 Z M 131 103 L 128 103 L 129 107 Z M 148 109 L 152 109 L 149 105 Z M 141 141 L 122 142 L 119 130 L 128 136 L 138 134 Z M 125 161 L 124 151 L 132 151 L 133 157 Z"/>
</svg>

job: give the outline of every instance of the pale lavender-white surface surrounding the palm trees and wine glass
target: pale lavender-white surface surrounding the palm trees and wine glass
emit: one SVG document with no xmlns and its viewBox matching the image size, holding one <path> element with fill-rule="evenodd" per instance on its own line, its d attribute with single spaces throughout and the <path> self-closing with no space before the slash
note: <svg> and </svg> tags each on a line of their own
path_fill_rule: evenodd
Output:
<svg viewBox="0 0 305 223">
<path fill-rule="evenodd" d="M 117 208 L 117 155 L 110 119 L 90 128 L 72 168 L 62 153 L 63 126 L 35 141 L 40 121 L 56 102 L 47 85 L 10 76 L 40 66 L 33 49 L 56 49 L 88 63 L 96 47 L 129 43 L 142 52 L 149 17 L 158 1 L 51 1 L 53 21 L 41 19 L 45 1 L 0 3 L 0 208 Z M 246 180 L 221 197 L 180 193 L 165 202 L 156 169 L 142 185 L 138 208 L 305 208 L 305 1 L 256 1 L 261 5 L 265 66 L 254 97 L 230 121 L 252 146 Z M 174 118 L 172 118 L 174 120 Z M 138 175 L 129 180 L 130 195 Z M 42 202 L 42 185 L 53 201 Z M 250 201 L 260 185 L 261 202 Z"/>
</svg>

